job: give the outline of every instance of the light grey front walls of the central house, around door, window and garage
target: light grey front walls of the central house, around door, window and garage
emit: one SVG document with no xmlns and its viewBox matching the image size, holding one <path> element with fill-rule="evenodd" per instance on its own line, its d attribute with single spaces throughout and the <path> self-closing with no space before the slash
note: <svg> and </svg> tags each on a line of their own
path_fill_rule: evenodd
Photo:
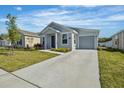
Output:
<svg viewBox="0 0 124 93">
<path fill-rule="evenodd" d="M 51 36 L 57 34 L 57 48 L 71 48 L 74 50 L 75 48 L 79 48 L 79 35 L 71 33 L 71 32 L 62 32 L 62 33 L 45 33 L 44 35 L 41 35 L 41 44 L 42 44 L 42 37 L 45 37 L 45 46 L 47 49 L 51 48 Z M 67 44 L 62 44 L 62 34 L 67 34 Z M 94 36 L 94 49 L 97 48 L 98 46 L 98 38 L 95 36 L 93 33 L 82 33 L 83 35 L 81 36 Z M 74 42 L 74 37 L 75 37 L 75 42 Z"/>
</svg>

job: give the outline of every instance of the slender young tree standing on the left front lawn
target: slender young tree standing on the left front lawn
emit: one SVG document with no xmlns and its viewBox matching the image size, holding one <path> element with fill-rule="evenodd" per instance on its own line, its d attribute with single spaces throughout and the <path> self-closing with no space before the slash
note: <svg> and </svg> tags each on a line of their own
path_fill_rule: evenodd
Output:
<svg viewBox="0 0 124 93">
<path fill-rule="evenodd" d="M 7 17 L 6 25 L 8 30 L 8 37 L 11 42 L 11 46 L 13 50 L 14 46 L 16 45 L 16 42 L 20 39 L 20 35 L 16 25 L 16 17 L 12 16 L 11 14 L 8 14 L 6 17 Z"/>
</svg>

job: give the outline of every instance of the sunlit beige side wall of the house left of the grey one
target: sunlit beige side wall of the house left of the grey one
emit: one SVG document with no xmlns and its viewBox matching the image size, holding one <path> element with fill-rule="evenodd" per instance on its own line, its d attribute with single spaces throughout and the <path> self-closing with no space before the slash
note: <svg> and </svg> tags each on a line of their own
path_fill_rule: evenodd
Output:
<svg viewBox="0 0 124 93">
<path fill-rule="evenodd" d="M 35 44 L 40 44 L 39 37 L 24 36 L 24 47 L 34 47 Z"/>
</svg>

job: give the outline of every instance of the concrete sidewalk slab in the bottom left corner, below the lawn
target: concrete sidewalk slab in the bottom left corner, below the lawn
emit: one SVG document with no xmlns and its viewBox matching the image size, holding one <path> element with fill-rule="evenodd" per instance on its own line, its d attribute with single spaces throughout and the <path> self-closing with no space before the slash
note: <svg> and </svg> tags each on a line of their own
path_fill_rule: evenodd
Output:
<svg viewBox="0 0 124 93">
<path fill-rule="evenodd" d="M 35 88 L 36 86 L 30 84 L 0 69 L 0 88 Z"/>
</svg>

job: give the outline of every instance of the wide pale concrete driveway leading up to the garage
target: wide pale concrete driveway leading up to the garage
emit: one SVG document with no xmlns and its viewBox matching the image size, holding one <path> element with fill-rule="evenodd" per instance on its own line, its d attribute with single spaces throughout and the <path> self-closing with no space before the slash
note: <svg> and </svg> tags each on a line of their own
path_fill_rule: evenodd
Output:
<svg viewBox="0 0 124 93">
<path fill-rule="evenodd" d="M 99 88 L 97 50 L 75 50 L 13 72 L 43 88 Z"/>
</svg>

